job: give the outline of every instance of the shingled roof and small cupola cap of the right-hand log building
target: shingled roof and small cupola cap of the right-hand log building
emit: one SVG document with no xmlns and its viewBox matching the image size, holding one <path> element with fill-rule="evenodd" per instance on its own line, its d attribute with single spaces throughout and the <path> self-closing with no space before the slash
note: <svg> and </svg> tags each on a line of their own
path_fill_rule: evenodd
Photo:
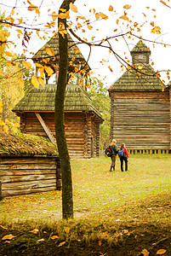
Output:
<svg viewBox="0 0 171 256">
<path fill-rule="evenodd" d="M 142 42 L 134 46 L 133 53 L 149 54 L 150 49 Z M 111 84 L 109 90 L 162 90 L 165 85 L 156 75 L 156 72 L 149 63 L 141 63 L 129 67 L 123 75 L 117 79 L 114 84 Z"/>
</svg>

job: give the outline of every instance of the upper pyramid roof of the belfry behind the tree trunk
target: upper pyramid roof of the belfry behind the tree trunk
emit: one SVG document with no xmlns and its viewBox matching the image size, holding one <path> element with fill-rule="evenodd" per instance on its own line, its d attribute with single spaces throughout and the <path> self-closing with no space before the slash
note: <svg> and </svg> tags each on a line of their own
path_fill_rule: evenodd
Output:
<svg viewBox="0 0 171 256">
<path fill-rule="evenodd" d="M 80 49 L 77 47 L 74 41 L 72 40 L 71 36 L 67 34 L 68 37 L 68 57 L 69 61 L 71 61 L 72 58 L 75 58 L 77 63 L 86 63 Z M 46 49 L 51 48 L 54 49 L 54 55 L 50 56 L 48 55 Z M 55 58 L 54 58 L 55 56 Z M 59 61 L 59 36 L 58 33 L 54 34 L 52 38 L 48 40 L 48 42 L 37 51 L 35 55 L 32 57 L 32 61 L 34 62 L 40 62 L 42 60 L 51 60 L 51 61 Z M 87 63 L 88 64 L 88 63 Z"/>
</svg>

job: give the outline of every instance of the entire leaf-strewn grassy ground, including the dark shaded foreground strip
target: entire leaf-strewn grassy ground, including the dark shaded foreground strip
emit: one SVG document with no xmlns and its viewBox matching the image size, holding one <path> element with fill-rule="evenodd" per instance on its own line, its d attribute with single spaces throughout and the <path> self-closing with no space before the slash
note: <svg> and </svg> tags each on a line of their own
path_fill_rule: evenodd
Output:
<svg viewBox="0 0 171 256">
<path fill-rule="evenodd" d="M 75 218 L 68 221 L 61 191 L 0 201 L 0 254 L 170 256 L 171 154 L 130 155 L 128 172 L 118 158 L 115 172 L 110 165 L 104 156 L 71 161 Z"/>
</svg>

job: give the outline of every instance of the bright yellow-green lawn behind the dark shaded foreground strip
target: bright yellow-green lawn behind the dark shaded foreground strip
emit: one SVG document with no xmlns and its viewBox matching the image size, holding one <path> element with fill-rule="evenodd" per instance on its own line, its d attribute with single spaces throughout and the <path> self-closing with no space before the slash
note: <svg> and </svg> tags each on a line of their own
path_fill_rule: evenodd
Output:
<svg viewBox="0 0 171 256">
<path fill-rule="evenodd" d="M 128 172 L 120 171 L 118 157 L 115 172 L 109 172 L 110 165 L 111 158 L 104 156 L 71 161 L 75 218 L 162 219 L 161 204 L 171 205 L 171 154 L 130 154 Z M 59 218 L 61 191 L 0 202 L 2 223 L 48 223 Z"/>
</svg>

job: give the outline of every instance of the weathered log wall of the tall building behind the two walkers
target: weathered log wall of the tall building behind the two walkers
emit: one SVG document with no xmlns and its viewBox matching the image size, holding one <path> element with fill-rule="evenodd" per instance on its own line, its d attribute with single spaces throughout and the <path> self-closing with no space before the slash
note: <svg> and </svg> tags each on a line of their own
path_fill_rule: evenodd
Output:
<svg viewBox="0 0 171 256">
<path fill-rule="evenodd" d="M 111 137 L 128 149 L 170 149 L 169 91 L 115 91 L 111 97 Z"/>
</svg>

